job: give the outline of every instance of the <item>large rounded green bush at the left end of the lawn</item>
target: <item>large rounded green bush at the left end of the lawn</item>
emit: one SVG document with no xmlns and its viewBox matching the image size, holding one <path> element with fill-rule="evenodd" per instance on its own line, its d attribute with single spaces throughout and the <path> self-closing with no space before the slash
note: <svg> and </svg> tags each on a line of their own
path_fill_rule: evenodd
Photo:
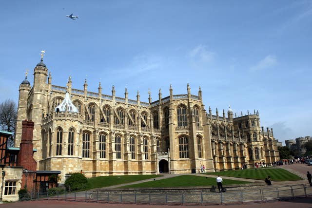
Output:
<svg viewBox="0 0 312 208">
<path fill-rule="evenodd" d="M 85 189 L 87 184 L 87 178 L 79 172 L 72 173 L 71 176 L 65 181 L 66 190 L 71 191 Z"/>
</svg>

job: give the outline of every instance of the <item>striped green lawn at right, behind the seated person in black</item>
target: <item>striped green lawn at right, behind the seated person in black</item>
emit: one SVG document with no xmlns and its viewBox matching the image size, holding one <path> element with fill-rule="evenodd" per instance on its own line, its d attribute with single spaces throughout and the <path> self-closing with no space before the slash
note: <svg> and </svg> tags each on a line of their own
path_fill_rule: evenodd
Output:
<svg viewBox="0 0 312 208">
<path fill-rule="evenodd" d="M 272 181 L 296 181 L 302 180 L 301 177 L 280 168 L 258 168 L 246 170 L 228 170 L 220 172 L 207 172 L 209 175 L 221 175 L 236 178 L 250 178 L 264 180 L 268 175 L 271 176 Z"/>
</svg>

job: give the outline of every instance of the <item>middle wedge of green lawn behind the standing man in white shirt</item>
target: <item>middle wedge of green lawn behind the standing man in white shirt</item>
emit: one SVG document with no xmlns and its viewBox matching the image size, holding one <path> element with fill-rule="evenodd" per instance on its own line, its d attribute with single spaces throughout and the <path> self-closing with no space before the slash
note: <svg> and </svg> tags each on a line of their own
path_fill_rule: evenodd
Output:
<svg viewBox="0 0 312 208">
<path fill-rule="evenodd" d="M 223 180 L 223 185 L 229 184 L 247 184 L 245 181 Z M 195 175 L 180 175 L 166 179 L 156 179 L 150 182 L 133 184 L 122 188 L 149 188 L 149 187 L 198 187 L 198 186 L 216 186 L 215 178 L 195 176 Z"/>
</svg>

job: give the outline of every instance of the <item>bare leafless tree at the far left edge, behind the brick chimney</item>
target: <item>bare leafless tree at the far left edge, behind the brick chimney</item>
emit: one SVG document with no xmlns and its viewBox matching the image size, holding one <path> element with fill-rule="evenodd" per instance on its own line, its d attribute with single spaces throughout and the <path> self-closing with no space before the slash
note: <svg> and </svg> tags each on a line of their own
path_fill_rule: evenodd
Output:
<svg viewBox="0 0 312 208">
<path fill-rule="evenodd" d="M 1 130 L 15 133 L 17 122 L 17 107 L 13 100 L 7 99 L 0 104 L 0 128 Z M 14 137 L 14 136 L 13 136 Z M 9 146 L 12 145 L 13 137 L 9 140 Z"/>
</svg>

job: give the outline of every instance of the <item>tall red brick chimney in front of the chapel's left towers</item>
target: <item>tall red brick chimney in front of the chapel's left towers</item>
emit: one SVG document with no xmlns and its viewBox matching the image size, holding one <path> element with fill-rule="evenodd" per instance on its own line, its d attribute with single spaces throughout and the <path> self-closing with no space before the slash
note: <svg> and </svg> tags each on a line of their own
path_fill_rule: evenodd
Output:
<svg viewBox="0 0 312 208">
<path fill-rule="evenodd" d="M 22 166 L 26 170 L 37 170 L 37 162 L 33 157 L 33 131 L 34 122 L 22 121 L 21 143 L 18 155 L 18 166 Z"/>
</svg>

